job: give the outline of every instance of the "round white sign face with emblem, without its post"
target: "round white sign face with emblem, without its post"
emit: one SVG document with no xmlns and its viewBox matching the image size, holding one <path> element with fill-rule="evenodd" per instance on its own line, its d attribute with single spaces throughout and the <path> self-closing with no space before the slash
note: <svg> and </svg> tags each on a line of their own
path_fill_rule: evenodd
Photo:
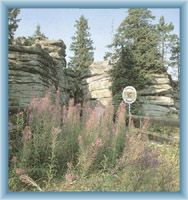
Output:
<svg viewBox="0 0 188 200">
<path fill-rule="evenodd" d="M 128 104 L 135 102 L 137 97 L 136 89 L 132 86 L 125 87 L 123 89 L 122 97 L 123 100 Z"/>
</svg>

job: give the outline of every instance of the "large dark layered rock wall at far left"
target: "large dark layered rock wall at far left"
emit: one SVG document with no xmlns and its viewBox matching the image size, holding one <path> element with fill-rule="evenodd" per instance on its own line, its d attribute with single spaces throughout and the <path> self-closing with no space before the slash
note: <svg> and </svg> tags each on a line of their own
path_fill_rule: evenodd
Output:
<svg viewBox="0 0 188 200">
<path fill-rule="evenodd" d="M 63 41 L 36 41 L 32 46 L 9 46 L 9 107 L 27 106 L 47 90 L 63 92 Z M 63 94 L 63 93 L 62 93 Z"/>
</svg>

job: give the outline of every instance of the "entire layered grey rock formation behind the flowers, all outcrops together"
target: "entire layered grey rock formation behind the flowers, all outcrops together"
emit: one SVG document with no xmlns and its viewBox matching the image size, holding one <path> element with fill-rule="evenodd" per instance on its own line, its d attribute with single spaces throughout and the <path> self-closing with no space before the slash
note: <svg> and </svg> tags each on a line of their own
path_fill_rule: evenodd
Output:
<svg viewBox="0 0 188 200">
<path fill-rule="evenodd" d="M 65 68 L 65 49 L 62 40 L 35 39 L 34 44 L 9 46 L 9 107 L 27 106 L 32 97 L 44 96 L 47 90 L 54 94 L 61 90 L 62 101 L 74 98 L 81 87 L 84 101 L 107 106 L 112 104 L 111 65 L 107 61 L 94 62 L 89 69 L 77 74 Z M 79 80 L 78 80 L 79 77 Z M 143 115 L 178 116 L 179 90 L 169 75 L 150 74 L 150 84 L 138 92 Z M 77 81 L 79 83 L 77 83 Z M 80 85 L 81 83 L 81 85 Z"/>
</svg>

